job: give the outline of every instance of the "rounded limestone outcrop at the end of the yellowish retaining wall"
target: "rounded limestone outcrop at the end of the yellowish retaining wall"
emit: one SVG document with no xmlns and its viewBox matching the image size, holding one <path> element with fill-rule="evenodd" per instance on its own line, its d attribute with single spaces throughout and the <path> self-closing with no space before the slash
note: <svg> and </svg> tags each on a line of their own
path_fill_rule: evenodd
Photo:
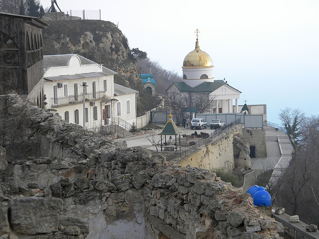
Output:
<svg viewBox="0 0 319 239">
<path fill-rule="evenodd" d="M 235 134 L 233 140 L 235 167 L 250 168 L 249 142 L 241 134 Z"/>
</svg>

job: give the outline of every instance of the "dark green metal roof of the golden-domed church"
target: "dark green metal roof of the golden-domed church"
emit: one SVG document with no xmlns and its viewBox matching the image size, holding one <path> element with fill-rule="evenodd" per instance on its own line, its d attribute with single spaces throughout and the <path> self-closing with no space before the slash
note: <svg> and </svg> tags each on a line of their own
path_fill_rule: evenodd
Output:
<svg viewBox="0 0 319 239">
<path fill-rule="evenodd" d="M 221 87 L 222 85 L 225 85 L 226 83 L 222 80 L 215 80 L 214 82 L 205 81 L 205 82 L 203 82 L 195 87 L 191 87 L 188 84 L 186 84 L 185 82 L 174 82 L 173 84 L 181 92 L 199 92 L 199 93 L 203 93 L 203 94 L 210 94 L 211 92 L 217 90 L 219 87 Z M 171 87 L 172 85 L 170 85 L 169 87 Z M 228 84 L 226 84 L 226 85 L 231 87 Z M 169 87 L 168 87 L 168 89 L 169 89 Z M 231 87 L 231 88 L 238 91 L 234 87 Z M 241 91 L 239 91 L 239 92 L 241 92 Z"/>
</svg>

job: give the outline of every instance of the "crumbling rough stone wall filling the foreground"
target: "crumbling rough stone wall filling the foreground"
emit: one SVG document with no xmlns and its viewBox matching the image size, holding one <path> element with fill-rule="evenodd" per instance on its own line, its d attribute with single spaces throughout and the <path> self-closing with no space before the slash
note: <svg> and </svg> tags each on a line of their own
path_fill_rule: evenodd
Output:
<svg viewBox="0 0 319 239">
<path fill-rule="evenodd" d="M 29 109 L 23 122 L 37 146 L 19 158 L 0 148 L 2 239 L 280 238 L 280 224 L 215 173 L 126 148 L 16 95 L 0 106 L 2 116 Z"/>
</svg>

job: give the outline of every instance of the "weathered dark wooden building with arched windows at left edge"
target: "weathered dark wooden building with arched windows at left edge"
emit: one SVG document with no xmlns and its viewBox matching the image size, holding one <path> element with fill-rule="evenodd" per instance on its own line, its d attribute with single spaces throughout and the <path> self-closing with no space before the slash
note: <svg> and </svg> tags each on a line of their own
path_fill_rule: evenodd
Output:
<svg viewBox="0 0 319 239">
<path fill-rule="evenodd" d="M 0 92 L 15 90 L 43 107 L 42 29 L 36 17 L 0 12 Z"/>
</svg>

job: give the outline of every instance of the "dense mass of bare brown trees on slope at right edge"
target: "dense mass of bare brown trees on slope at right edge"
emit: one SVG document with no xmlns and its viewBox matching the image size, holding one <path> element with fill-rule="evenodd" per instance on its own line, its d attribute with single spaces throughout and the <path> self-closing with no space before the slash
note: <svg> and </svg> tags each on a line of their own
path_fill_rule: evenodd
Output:
<svg viewBox="0 0 319 239">
<path fill-rule="evenodd" d="M 307 124 L 299 130 L 301 141 L 288 169 L 278 181 L 280 188 L 276 201 L 288 214 L 298 214 L 302 221 L 316 224 L 319 217 L 319 116 L 304 121 Z"/>
</svg>

